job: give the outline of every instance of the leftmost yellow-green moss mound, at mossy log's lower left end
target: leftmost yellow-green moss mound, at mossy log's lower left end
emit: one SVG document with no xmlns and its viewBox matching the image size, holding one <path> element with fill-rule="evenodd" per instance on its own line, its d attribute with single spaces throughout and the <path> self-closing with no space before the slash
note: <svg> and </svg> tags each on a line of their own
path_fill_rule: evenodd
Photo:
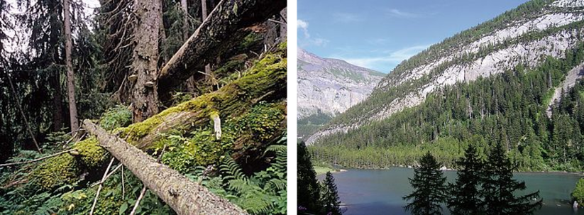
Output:
<svg viewBox="0 0 584 215">
<path fill-rule="evenodd" d="M 77 177 L 77 162 L 70 154 L 48 158 L 35 170 L 32 177 L 35 184 L 43 189 L 51 189 L 61 184 L 70 184 Z"/>
</svg>

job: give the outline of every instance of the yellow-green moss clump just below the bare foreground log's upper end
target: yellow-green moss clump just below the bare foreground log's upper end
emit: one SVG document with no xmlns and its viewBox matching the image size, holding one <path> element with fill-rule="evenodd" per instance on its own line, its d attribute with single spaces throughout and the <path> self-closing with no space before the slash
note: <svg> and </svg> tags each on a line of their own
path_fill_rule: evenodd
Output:
<svg viewBox="0 0 584 215">
<path fill-rule="evenodd" d="M 79 151 L 79 156 L 87 167 L 97 167 L 105 160 L 104 154 L 106 150 L 99 146 L 99 141 L 95 137 L 79 141 L 73 148 Z"/>
</svg>

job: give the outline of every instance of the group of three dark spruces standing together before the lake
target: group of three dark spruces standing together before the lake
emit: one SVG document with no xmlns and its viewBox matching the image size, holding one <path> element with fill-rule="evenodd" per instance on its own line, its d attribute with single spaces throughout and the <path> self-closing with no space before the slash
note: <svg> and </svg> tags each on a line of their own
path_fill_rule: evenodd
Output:
<svg viewBox="0 0 584 215">
<path fill-rule="evenodd" d="M 404 199 L 413 201 L 405 208 L 412 214 L 441 214 L 441 204 L 446 203 L 451 214 L 533 214 L 542 204 L 539 191 L 514 194 L 526 189 L 525 183 L 513 179 L 517 165 L 509 160 L 502 143 L 495 145 L 486 162 L 470 145 L 465 157 L 458 160 L 458 177 L 448 189 L 439 162 L 426 153 L 414 170 L 414 178 L 410 179 L 414 192 Z"/>
</svg>

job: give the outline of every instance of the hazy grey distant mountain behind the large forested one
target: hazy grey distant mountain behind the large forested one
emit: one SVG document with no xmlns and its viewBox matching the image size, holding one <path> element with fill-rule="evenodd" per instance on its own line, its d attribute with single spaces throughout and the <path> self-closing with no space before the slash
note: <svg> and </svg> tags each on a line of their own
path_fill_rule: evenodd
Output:
<svg viewBox="0 0 584 215">
<path fill-rule="evenodd" d="M 363 101 L 385 76 L 344 60 L 318 57 L 296 48 L 298 138 Z"/>
</svg>

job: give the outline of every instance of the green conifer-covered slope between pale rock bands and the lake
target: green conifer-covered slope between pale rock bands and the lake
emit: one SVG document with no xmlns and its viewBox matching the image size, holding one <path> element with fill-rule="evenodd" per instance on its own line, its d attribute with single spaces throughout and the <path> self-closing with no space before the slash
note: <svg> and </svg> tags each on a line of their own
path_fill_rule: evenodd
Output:
<svg viewBox="0 0 584 215">
<path fill-rule="evenodd" d="M 584 82 L 561 93 L 551 118 L 551 96 L 584 61 L 578 43 L 562 59 L 546 57 L 534 69 L 521 65 L 500 75 L 457 83 L 428 95 L 420 106 L 323 138 L 314 158 L 349 167 L 414 165 L 426 150 L 448 167 L 468 144 L 486 155 L 504 143 L 520 170 L 583 170 Z"/>
</svg>

